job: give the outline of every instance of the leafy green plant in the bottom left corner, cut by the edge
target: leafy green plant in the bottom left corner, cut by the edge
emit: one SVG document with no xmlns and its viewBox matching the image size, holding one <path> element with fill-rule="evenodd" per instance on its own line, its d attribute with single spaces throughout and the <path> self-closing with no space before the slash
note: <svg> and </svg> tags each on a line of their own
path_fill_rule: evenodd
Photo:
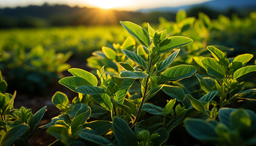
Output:
<svg viewBox="0 0 256 146">
<path fill-rule="evenodd" d="M 2 146 L 28 145 L 28 140 L 37 132 L 35 127 L 40 123 L 46 106 L 37 113 L 32 114 L 31 109 L 21 106 L 20 109 L 13 107 L 16 91 L 13 95 L 5 93 L 7 83 L 2 79 L 0 72 L 0 144 Z"/>
</svg>

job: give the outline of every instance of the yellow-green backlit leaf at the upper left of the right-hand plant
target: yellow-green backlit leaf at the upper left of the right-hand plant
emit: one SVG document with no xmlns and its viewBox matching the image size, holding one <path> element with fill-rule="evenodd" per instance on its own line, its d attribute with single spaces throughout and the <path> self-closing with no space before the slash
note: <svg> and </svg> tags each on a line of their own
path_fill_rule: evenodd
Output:
<svg viewBox="0 0 256 146">
<path fill-rule="evenodd" d="M 215 60 L 219 61 L 222 63 L 224 66 L 229 66 L 229 60 L 227 59 L 227 56 L 219 49 L 213 46 L 208 46 L 208 50 L 210 50 L 211 54 L 215 58 Z"/>
</svg>

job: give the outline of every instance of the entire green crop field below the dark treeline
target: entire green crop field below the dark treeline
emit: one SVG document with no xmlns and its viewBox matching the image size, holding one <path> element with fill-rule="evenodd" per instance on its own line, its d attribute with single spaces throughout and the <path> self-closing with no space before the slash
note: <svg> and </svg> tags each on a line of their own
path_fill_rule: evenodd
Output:
<svg viewBox="0 0 256 146">
<path fill-rule="evenodd" d="M 0 30 L 0 145 L 256 145 L 256 12 Z"/>
</svg>

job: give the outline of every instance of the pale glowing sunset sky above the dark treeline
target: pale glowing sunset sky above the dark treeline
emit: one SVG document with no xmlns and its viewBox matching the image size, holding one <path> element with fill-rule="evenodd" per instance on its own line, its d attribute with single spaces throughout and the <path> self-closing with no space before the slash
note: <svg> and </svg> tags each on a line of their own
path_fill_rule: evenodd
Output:
<svg viewBox="0 0 256 146">
<path fill-rule="evenodd" d="M 138 10 L 156 7 L 179 7 L 200 4 L 211 0 L 0 0 L 0 7 L 24 7 L 27 5 L 68 4 L 79 7 L 101 7 L 103 9 Z"/>
</svg>

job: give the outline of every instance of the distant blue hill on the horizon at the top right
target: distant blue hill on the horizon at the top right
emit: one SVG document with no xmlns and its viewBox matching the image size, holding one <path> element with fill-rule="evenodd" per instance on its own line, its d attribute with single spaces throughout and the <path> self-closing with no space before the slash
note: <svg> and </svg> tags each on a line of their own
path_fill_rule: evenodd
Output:
<svg viewBox="0 0 256 146">
<path fill-rule="evenodd" d="M 180 9 L 190 10 L 194 7 L 207 7 L 216 11 L 224 11 L 229 9 L 245 10 L 256 9 L 255 0 L 213 0 L 203 2 L 201 4 L 184 5 L 181 7 L 158 7 L 153 9 L 139 9 L 137 12 L 149 13 L 149 12 L 177 12 Z"/>
</svg>

